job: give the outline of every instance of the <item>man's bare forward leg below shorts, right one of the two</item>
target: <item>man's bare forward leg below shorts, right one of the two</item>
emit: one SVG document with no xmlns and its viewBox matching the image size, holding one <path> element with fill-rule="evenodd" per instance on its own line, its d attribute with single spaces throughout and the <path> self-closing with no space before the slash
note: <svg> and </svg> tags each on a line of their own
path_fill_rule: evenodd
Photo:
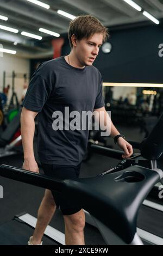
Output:
<svg viewBox="0 0 163 256">
<path fill-rule="evenodd" d="M 76 214 L 64 215 L 66 245 L 85 245 L 84 227 L 85 214 L 83 210 Z"/>
</svg>

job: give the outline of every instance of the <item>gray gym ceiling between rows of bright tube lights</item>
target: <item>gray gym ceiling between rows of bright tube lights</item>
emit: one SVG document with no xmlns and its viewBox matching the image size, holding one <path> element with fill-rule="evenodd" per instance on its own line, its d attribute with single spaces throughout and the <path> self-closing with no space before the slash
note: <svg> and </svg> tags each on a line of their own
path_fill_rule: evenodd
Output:
<svg viewBox="0 0 163 256">
<path fill-rule="evenodd" d="M 41 0 L 49 4 L 45 9 L 27 0 L 1 0 L 0 15 L 8 21 L 0 20 L 0 25 L 18 29 L 18 34 L 0 29 L 0 44 L 3 48 L 16 50 L 17 56 L 25 58 L 43 58 L 52 56 L 51 39 L 55 37 L 39 32 L 39 28 L 65 35 L 70 19 L 61 16 L 57 10 L 63 10 L 74 16 L 92 14 L 106 27 L 128 26 L 149 21 L 142 13 L 130 7 L 123 0 Z M 163 0 L 134 0 L 143 10 L 151 13 L 156 19 L 163 17 Z M 151 22 L 151 21 L 149 21 Z M 152 22 L 151 22 L 152 24 Z M 22 31 L 42 36 L 36 40 L 21 35 Z M 14 45 L 13 42 L 17 42 Z"/>
</svg>

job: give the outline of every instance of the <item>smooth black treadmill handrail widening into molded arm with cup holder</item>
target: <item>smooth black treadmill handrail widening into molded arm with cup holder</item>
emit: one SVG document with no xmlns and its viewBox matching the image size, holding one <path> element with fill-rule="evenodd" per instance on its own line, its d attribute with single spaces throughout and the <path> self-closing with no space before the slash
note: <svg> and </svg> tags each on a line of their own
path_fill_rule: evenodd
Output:
<svg viewBox="0 0 163 256">
<path fill-rule="evenodd" d="M 144 176 L 144 179 L 140 182 L 128 183 L 125 180 L 122 182 L 128 173 L 130 177 L 130 172 L 134 175 L 136 173 L 135 177 Z M 131 166 L 118 174 L 112 173 L 99 178 L 59 180 L 3 164 L 0 167 L 0 175 L 74 196 L 79 200 L 82 208 L 98 218 L 128 244 L 136 233 L 137 212 L 140 205 L 154 184 L 160 180 L 157 172 L 141 166 Z"/>
</svg>

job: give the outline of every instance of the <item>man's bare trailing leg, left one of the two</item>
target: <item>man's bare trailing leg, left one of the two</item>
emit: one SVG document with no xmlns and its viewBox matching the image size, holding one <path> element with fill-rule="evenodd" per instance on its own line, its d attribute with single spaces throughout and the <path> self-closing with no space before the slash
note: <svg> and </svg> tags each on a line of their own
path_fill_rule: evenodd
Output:
<svg viewBox="0 0 163 256">
<path fill-rule="evenodd" d="M 39 211 L 37 214 L 37 223 L 35 227 L 35 231 L 32 237 L 33 245 L 38 245 L 41 240 L 43 233 L 51 221 L 54 212 L 56 209 L 56 204 L 54 202 L 54 198 L 52 192 L 50 190 L 45 190 L 45 195 L 42 199 L 42 202 L 39 207 Z"/>
</svg>

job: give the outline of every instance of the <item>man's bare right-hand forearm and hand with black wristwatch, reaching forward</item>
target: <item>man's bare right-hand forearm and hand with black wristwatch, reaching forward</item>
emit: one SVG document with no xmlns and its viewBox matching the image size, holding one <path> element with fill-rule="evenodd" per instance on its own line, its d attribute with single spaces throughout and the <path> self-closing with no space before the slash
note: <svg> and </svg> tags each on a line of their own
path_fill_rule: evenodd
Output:
<svg viewBox="0 0 163 256">
<path fill-rule="evenodd" d="M 120 132 L 116 129 L 114 124 L 111 121 L 111 118 L 109 117 L 109 114 L 106 112 L 105 107 L 97 108 L 93 110 L 94 114 L 95 112 L 98 112 L 96 115 L 96 120 L 99 122 L 100 126 L 103 127 L 102 130 L 110 130 L 110 136 L 114 138 L 115 136 L 119 135 Z M 102 114 L 100 114 L 102 112 Z M 117 139 L 117 145 L 124 151 L 124 154 L 122 155 L 123 159 L 129 158 L 131 155 L 133 155 L 133 147 L 122 137 Z"/>
</svg>

